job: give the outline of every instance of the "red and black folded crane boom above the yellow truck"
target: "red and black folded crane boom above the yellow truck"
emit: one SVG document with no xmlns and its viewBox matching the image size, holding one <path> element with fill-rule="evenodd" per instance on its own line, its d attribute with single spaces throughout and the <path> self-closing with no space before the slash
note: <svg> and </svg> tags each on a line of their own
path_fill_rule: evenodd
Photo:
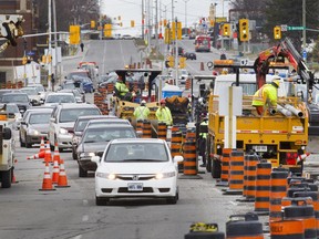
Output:
<svg viewBox="0 0 319 239">
<path fill-rule="evenodd" d="M 281 41 L 277 46 L 272 46 L 260 52 L 259 56 L 256 59 L 254 70 L 256 73 L 256 83 L 258 89 L 266 84 L 266 74 L 269 72 L 270 62 L 285 63 L 285 59 L 288 60 L 295 71 L 300 75 L 303 83 L 307 84 L 307 98 L 308 102 L 310 102 L 312 86 L 315 84 L 313 73 L 309 71 L 303 59 L 288 38 Z"/>
</svg>

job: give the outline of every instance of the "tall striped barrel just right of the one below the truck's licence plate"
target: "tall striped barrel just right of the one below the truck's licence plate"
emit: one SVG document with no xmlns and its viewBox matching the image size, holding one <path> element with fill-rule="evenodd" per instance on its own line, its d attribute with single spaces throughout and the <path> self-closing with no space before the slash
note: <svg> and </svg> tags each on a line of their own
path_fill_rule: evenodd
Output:
<svg viewBox="0 0 319 239">
<path fill-rule="evenodd" d="M 281 199 L 286 197 L 288 170 L 274 168 L 270 174 L 269 221 L 281 220 Z"/>
</svg>

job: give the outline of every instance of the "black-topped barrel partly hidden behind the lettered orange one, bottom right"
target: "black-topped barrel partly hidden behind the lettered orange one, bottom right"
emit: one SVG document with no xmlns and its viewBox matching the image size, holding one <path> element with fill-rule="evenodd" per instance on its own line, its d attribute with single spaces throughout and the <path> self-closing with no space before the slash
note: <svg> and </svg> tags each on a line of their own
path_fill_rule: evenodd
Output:
<svg viewBox="0 0 319 239">
<path fill-rule="evenodd" d="M 297 205 L 284 208 L 284 220 L 301 220 L 303 222 L 305 239 L 317 239 L 315 209 L 312 205 Z"/>
</svg>

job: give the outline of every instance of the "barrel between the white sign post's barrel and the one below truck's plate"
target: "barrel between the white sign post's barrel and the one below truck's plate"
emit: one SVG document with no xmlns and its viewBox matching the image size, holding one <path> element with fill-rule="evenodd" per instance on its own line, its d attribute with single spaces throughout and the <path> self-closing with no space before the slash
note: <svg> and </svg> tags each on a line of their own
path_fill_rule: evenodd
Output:
<svg viewBox="0 0 319 239">
<path fill-rule="evenodd" d="M 258 162 L 259 157 L 257 154 L 249 154 L 245 156 L 243 196 L 245 196 L 248 200 L 255 200 Z"/>
</svg>

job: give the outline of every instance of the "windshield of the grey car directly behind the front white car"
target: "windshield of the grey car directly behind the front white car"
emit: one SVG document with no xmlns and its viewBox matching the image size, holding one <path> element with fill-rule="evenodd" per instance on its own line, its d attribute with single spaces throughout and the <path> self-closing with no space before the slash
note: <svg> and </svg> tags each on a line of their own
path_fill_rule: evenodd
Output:
<svg viewBox="0 0 319 239">
<path fill-rule="evenodd" d="M 115 138 L 135 138 L 133 128 L 94 127 L 88 128 L 83 135 L 83 143 L 110 142 Z"/>
</svg>

